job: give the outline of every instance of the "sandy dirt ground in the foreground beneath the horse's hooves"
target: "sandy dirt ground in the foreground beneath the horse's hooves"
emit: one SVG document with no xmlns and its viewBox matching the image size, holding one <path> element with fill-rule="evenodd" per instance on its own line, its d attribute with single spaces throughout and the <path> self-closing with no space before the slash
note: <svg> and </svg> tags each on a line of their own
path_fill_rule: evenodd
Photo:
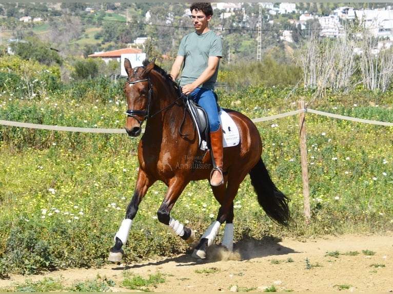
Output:
<svg viewBox="0 0 393 294">
<path fill-rule="evenodd" d="M 205 260 L 195 260 L 187 254 L 136 264 L 59 270 L 40 276 L 11 275 L 0 280 L 0 288 L 44 277 L 62 279 L 64 285 L 105 277 L 115 282 L 111 291 L 131 292 L 122 285 L 125 271 L 144 279 L 160 273 L 165 282 L 145 289 L 154 292 L 262 292 L 272 286 L 277 291 L 294 292 L 393 292 L 393 232 L 304 241 L 268 237 L 244 240 L 234 244 L 232 254 L 220 246 L 209 247 Z"/>
</svg>

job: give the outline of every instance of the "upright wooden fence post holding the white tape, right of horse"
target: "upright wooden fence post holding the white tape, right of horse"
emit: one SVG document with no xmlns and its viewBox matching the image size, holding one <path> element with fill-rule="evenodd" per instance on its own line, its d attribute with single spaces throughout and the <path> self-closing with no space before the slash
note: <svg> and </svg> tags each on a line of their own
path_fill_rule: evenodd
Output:
<svg viewBox="0 0 393 294">
<path fill-rule="evenodd" d="M 299 109 L 304 110 L 304 100 L 299 101 Z M 303 180 L 303 202 L 304 202 L 304 218 L 306 223 L 310 222 L 310 190 L 308 186 L 308 165 L 307 165 L 307 144 L 306 144 L 306 119 L 305 113 L 299 114 L 300 128 L 300 155 L 302 161 L 302 180 Z"/>
</svg>

